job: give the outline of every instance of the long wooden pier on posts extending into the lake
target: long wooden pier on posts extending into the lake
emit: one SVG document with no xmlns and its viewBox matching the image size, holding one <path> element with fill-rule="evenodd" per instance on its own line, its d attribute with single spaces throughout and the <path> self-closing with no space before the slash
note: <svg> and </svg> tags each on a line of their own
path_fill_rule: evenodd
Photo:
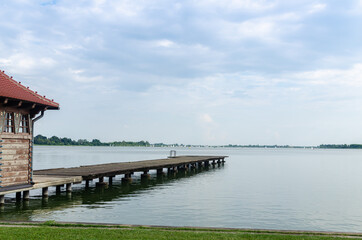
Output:
<svg viewBox="0 0 362 240">
<path fill-rule="evenodd" d="M 135 172 L 142 172 L 141 179 L 147 179 L 150 177 L 150 170 L 156 170 L 157 175 L 163 175 L 164 169 L 167 169 L 169 173 L 175 173 L 179 170 L 220 165 L 225 162 L 226 157 L 227 156 L 175 156 L 166 159 L 36 170 L 33 173 L 34 184 L 0 189 L 0 205 L 4 205 L 5 195 L 10 193 L 16 193 L 17 200 L 23 198 L 23 200 L 27 201 L 29 200 L 30 190 L 42 189 L 42 195 L 46 198 L 48 197 L 49 187 L 56 187 L 57 192 L 60 192 L 61 187 L 65 185 L 66 191 L 71 192 L 72 184 L 79 184 L 82 183 L 82 181 L 85 181 L 86 187 L 89 187 L 89 181 L 98 178 L 97 186 L 108 185 L 112 184 L 115 176 L 124 175 L 122 182 L 130 182 Z M 105 177 L 108 177 L 108 183 L 104 181 Z"/>
</svg>

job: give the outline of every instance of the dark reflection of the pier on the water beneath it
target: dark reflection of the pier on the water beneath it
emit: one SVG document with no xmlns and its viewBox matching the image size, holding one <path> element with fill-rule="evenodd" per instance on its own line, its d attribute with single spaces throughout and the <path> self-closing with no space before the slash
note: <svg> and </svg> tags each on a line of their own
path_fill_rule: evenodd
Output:
<svg viewBox="0 0 362 240">
<path fill-rule="evenodd" d="M 85 184 L 73 186 L 73 192 L 65 191 L 57 193 L 49 190 L 49 196 L 42 198 L 41 193 L 31 196 L 30 201 L 16 201 L 14 198 L 6 198 L 6 203 L 0 209 L 0 220 L 3 221 L 31 221 L 34 215 L 50 215 L 55 211 L 83 206 L 88 209 L 103 208 L 111 202 L 122 203 L 131 201 L 132 198 L 150 194 L 151 191 L 175 184 L 178 181 L 195 177 L 198 174 L 208 174 L 224 168 L 221 164 L 216 167 L 205 167 L 202 169 L 179 170 L 178 172 L 157 175 L 153 173 L 148 179 L 141 179 L 135 175 L 132 182 L 124 183 L 121 176 L 113 179 L 109 186 L 96 187 L 96 181 L 90 182 L 90 187 Z"/>
</svg>

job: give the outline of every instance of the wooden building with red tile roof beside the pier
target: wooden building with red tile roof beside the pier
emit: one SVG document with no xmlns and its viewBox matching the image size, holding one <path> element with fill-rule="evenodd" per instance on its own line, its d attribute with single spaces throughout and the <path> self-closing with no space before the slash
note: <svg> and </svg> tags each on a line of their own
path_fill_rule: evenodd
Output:
<svg viewBox="0 0 362 240">
<path fill-rule="evenodd" d="M 32 184 L 34 122 L 47 109 L 59 104 L 0 71 L 0 192 Z"/>
</svg>

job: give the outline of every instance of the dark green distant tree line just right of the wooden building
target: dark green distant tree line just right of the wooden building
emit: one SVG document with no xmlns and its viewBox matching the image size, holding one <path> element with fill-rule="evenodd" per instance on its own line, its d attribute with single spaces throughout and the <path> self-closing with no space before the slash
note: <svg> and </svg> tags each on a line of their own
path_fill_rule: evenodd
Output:
<svg viewBox="0 0 362 240">
<path fill-rule="evenodd" d="M 43 135 L 37 135 L 34 137 L 34 144 L 36 145 L 59 145 L 59 146 L 127 146 L 127 147 L 148 147 L 151 144 L 147 141 L 139 141 L 139 142 L 109 142 L 103 143 L 98 139 L 93 139 L 92 141 L 88 141 L 86 139 L 79 139 L 77 141 L 70 138 L 59 138 L 57 136 L 53 136 L 47 138 Z"/>
</svg>

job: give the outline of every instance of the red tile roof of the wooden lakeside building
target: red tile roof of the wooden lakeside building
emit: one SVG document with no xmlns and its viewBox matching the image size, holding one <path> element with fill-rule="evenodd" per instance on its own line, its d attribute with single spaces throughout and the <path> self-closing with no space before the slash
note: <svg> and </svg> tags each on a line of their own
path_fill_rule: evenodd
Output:
<svg viewBox="0 0 362 240">
<path fill-rule="evenodd" d="M 45 105 L 48 109 L 59 109 L 59 104 L 46 98 L 45 96 L 40 96 L 37 92 L 33 92 L 28 87 L 25 87 L 9 77 L 0 70 L 0 97 L 7 97 L 18 99 L 22 101 L 37 103 Z"/>
</svg>

